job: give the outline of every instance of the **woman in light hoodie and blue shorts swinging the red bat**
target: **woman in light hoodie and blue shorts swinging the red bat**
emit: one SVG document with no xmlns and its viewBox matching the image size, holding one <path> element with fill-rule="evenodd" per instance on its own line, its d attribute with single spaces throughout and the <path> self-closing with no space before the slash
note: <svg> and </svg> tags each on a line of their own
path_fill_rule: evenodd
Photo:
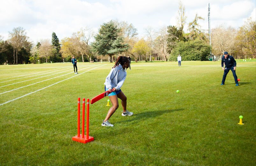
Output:
<svg viewBox="0 0 256 166">
<path fill-rule="evenodd" d="M 109 75 L 107 76 L 107 78 L 105 80 L 105 83 L 104 83 L 105 91 L 107 91 L 107 90 L 110 91 L 110 94 L 108 96 L 112 103 L 112 107 L 110 107 L 106 118 L 102 122 L 102 124 L 101 124 L 102 126 L 107 126 L 107 127 L 114 126 L 108 120 L 114 114 L 114 112 L 117 110 L 117 108 L 119 107 L 117 98 L 122 100 L 122 102 L 121 102 L 122 106 L 123 106 L 122 116 L 133 115 L 132 112 L 129 112 L 126 110 L 127 98 L 120 89 L 124 83 L 125 78 L 126 78 L 125 68 L 127 69 L 130 66 L 130 63 L 131 63 L 131 61 L 127 57 L 119 56 L 117 58 L 115 65 L 112 67 Z"/>
</svg>

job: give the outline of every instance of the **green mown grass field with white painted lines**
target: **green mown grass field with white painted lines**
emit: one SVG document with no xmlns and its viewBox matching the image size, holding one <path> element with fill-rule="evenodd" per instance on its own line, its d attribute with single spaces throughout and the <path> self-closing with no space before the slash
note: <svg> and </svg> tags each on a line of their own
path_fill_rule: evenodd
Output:
<svg viewBox="0 0 256 166">
<path fill-rule="evenodd" d="M 134 115 L 119 101 L 102 127 L 108 97 L 90 105 L 87 144 L 71 139 L 77 98 L 102 93 L 113 64 L 77 66 L 0 66 L 0 165 L 256 164 L 255 61 L 238 62 L 239 86 L 232 72 L 220 86 L 220 61 L 132 63 L 121 89 Z"/>
</svg>

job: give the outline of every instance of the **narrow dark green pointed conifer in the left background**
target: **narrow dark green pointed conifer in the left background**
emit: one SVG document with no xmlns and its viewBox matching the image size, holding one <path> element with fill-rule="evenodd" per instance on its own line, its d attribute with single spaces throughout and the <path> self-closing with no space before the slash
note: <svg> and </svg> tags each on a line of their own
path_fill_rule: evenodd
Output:
<svg viewBox="0 0 256 166">
<path fill-rule="evenodd" d="M 53 45 L 53 56 L 50 60 L 53 62 L 61 62 L 61 53 L 60 53 L 60 42 L 59 38 L 56 36 L 56 33 L 52 33 L 52 45 Z"/>
</svg>

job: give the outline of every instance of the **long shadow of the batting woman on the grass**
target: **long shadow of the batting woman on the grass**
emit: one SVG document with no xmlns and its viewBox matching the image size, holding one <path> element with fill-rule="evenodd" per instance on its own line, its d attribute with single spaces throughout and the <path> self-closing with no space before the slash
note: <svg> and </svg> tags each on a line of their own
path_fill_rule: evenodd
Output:
<svg viewBox="0 0 256 166">
<path fill-rule="evenodd" d="M 132 115 L 132 118 L 129 118 L 128 120 L 124 120 L 124 121 L 119 121 L 119 122 L 134 122 L 134 123 L 137 123 L 141 120 L 154 118 L 154 117 L 160 116 L 162 114 L 172 113 L 174 111 L 182 111 L 182 110 L 184 110 L 184 108 L 161 110 L 161 111 L 147 111 L 147 112 L 143 112 L 143 113 L 139 113 L 139 114 L 135 113 L 135 114 Z"/>
</svg>

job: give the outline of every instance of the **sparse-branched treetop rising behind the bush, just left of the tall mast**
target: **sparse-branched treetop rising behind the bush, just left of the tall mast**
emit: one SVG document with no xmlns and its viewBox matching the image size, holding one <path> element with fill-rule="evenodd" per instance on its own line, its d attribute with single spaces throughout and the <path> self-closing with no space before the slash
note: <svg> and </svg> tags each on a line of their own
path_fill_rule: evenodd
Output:
<svg viewBox="0 0 256 166">
<path fill-rule="evenodd" d="M 195 40 L 196 38 L 200 38 L 201 40 L 206 39 L 202 31 L 199 29 L 201 28 L 201 25 L 198 24 L 198 20 L 204 20 L 204 18 L 198 16 L 196 13 L 194 20 L 188 24 L 188 31 L 190 31 L 188 37 L 190 40 Z"/>
</svg>

